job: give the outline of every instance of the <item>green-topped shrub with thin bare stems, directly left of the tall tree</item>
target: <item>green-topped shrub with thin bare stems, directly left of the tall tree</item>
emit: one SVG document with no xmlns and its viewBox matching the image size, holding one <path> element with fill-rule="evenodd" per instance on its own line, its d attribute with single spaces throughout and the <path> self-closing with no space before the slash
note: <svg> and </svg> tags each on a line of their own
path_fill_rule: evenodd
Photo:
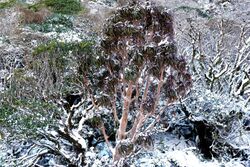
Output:
<svg viewBox="0 0 250 167">
<path fill-rule="evenodd" d="M 93 42 L 65 43 L 50 41 L 33 51 L 29 68 L 38 76 L 46 95 L 61 94 L 82 81 L 93 60 Z M 72 83 L 73 82 L 73 83 Z M 79 83 L 78 83 L 79 84 Z"/>
</svg>

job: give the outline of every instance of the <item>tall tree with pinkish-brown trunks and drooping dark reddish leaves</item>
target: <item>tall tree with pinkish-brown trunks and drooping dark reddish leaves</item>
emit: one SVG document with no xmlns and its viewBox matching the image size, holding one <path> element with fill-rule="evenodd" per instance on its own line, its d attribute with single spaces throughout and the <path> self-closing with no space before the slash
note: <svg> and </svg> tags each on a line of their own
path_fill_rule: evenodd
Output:
<svg viewBox="0 0 250 167">
<path fill-rule="evenodd" d="M 105 25 L 101 70 L 94 77 L 97 80 L 92 82 L 92 90 L 98 92 L 97 105 L 110 107 L 118 123 L 115 148 L 102 126 L 114 161 L 129 155 L 164 108 L 183 97 L 191 86 L 186 62 L 177 56 L 172 24 L 166 10 L 149 2 L 132 2 L 117 10 Z M 117 111 L 118 105 L 121 111 Z M 134 116 L 132 120 L 129 115 Z M 154 121 L 146 126 L 149 117 Z"/>
</svg>

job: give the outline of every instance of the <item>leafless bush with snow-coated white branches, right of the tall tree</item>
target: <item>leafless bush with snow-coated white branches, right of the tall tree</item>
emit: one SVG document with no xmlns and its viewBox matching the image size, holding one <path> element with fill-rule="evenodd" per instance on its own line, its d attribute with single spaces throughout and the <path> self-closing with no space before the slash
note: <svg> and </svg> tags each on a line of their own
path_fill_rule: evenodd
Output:
<svg viewBox="0 0 250 167">
<path fill-rule="evenodd" d="M 249 99 L 249 23 L 191 16 L 178 17 L 177 36 L 178 45 L 186 46 L 180 52 L 189 57 L 194 80 L 212 91 Z"/>
</svg>

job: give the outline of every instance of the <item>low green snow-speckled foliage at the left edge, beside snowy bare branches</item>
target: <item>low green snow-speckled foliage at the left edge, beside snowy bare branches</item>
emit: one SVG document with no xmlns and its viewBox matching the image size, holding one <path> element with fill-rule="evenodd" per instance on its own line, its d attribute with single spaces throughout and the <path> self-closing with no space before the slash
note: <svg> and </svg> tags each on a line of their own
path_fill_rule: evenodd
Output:
<svg viewBox="0 0 250 167">
<path fill-rule="evenodd" d="M 2 102 L 0 107 L 0 125 L 8 130 L 12 137 L 36 137 L 38 129 L 53 124 L 51 115 L 59 111 L 52 103 L 33 99 L 14 98 L 13 103 Z"/>
</svg>

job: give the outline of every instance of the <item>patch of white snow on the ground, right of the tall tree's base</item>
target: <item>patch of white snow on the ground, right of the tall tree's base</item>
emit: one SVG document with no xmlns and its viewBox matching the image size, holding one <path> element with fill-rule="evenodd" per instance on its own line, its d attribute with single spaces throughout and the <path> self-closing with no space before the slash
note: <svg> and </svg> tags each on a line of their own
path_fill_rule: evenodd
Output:
<svg viewBox="0 0 250 167">
<path fill-rule="evenodd" d="M 157 134 L 154 150 L 141 152 L 141 156 L 133 166 L 137 167 L 170 167 L 171 162 L 181 167 L 244 167 L 238 159 L 218 161 L 216 159 L 204 160 L 192 143 L 178 139 L 171 134 Z M 141 158 L 140 158 L 141 157 Z"/>
</svg>

